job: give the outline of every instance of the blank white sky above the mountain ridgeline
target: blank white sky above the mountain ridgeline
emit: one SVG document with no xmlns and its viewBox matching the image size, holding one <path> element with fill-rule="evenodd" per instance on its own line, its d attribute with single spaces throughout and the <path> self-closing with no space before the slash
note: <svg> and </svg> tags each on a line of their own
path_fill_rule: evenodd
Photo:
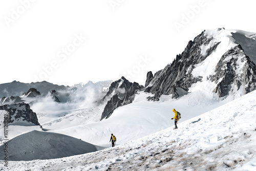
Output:
<svg viewBox="0 0 256 171">
<path fill-rule="evenodd" d="M 0 83 L 124 76 L 144 85 L 148 71 L 163 69 L 203 30 L 256 32 L 252 2 L 2 0 Z"/>
</svg>

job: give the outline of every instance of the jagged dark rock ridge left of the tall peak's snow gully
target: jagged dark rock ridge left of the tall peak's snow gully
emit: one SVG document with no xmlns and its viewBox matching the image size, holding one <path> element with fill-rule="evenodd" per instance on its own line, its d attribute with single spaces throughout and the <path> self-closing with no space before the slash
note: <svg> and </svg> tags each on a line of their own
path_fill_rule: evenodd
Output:
<svg viewBox="0 0 256 171">
<path fill-rule="evenodd" d="M 189 41 L 187 47 L 176 56 L 176 59 L 163 70 L 157 72 L 145 92 L 157 94 L 157 100 L 162 94 L 173 94 L 173 98 L 178 98 L 187 93 L 191 84 L 201 81 L 202 77 L 194 77 L 191 72 L 194 66 L 202 62 L 207 56 L 216 50 L 220 42 L 212 45 L 205 55 L 201 54 L 201 46 L 207 46 L 212 38 L 207 37 L 204 32 L 198 35 L 194 41 Z"/>
</svg>

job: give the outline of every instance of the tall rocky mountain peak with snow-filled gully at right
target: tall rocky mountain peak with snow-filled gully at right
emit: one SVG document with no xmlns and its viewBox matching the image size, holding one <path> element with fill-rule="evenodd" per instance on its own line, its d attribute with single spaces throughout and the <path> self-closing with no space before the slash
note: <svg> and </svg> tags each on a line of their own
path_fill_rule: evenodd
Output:
<svg viewBox="0 0 256 171">
<path fill-rule="evenodd" d="M 193 84 L 203 81 L 208 81 L 211 86 L 211 82 L 215 84 L 211 91 L 218 97 L 226 97 L 233 92 L 239 92 L 241 96 L 255 90 L 254 58 L 247 56 L 243 45 L 236 43 L 246 42 L 241 40 L 242 36 L 236 36 L 240 39 L 232 37 L 237 32 L 224 28 L 207 30 L 190 40 L 172 63 L 153 77 L 150 72 L 147 74 L 145 92 L 155 94 L 155 97 L 148 99 L 157 100 L 161 95 L 170 94 L 179 98 L 187 94 Z M 256 44 L 253 46 L 256 47 Z M 247 48 L 247 54 L 253 53 Z"/>
</svg>

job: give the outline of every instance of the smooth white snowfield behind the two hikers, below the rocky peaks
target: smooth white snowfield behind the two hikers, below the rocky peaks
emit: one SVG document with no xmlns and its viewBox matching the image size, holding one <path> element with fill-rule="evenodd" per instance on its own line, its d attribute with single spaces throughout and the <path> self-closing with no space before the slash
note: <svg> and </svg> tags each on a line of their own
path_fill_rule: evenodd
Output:
<svg viewBox="0 0 256 171">
<path fill-rule="evenodd" d="M 43 127 L 50 132 L 65 134 L 92 144 L 110 147 L 111 144 L 108 143 L 112 133 L 116 135 L 117 143 L 121 144 L 174 125 L 174 121 L 170 119 L 174 117 L 173 108 L 182 114 L 179 121 L 181 123 L 227 102 L 227 100 L 212 99 L 212 96 L 205 94 L 203 90 L 198 90 L 198 94 L 190 93 L 178 100 L 172 99 L 170 95 L 163 95 L 159 101 L 147 101 L 146 97 L 152 94 L 138 93 L 140 94 L 136 95 L 133 103 L 116 109 L 108 119 L 84 124 L 73 120 L 70 123 L 73 126 L 66 129 L 63 126 L 57 128 L 54 124 L 43 125 Z"/>
</svg>

